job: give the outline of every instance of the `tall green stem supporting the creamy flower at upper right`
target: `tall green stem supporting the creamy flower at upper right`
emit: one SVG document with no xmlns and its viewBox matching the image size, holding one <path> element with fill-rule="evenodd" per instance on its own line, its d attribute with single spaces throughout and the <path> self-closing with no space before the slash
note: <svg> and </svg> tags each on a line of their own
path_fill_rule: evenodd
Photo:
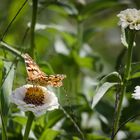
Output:
<svg viewBox="0 0 140 140">
<path fill-rule="evenodd" d="M 118 101 L 117 113 L 116 113 L 116 119 L 114 121 L 114 132 L 113 133 L 115 133 L 117 131 L 118 126 L 119 126 L 119 120 L 120 120 L 121 110 L 122 110 L 122 101 L 123 101 L 124 94 L 126 92 L 126 86 L 127 86 L 127 82 L 128 82 L 129 76 L 130 76 L 133 44 L 134 44 L 134 39 L 135 39 L 135 31 L 130 30 L 128 37 L 129 37 L 128 38 L 129 42 L 128 42 L 126 68 L 125 68 L 124 77 L 123 77 L 121 94 L 120 94 L 120 98 Z M 112 137 L 112 140 L 114 140 L 114 136 Z"/>
</svg>

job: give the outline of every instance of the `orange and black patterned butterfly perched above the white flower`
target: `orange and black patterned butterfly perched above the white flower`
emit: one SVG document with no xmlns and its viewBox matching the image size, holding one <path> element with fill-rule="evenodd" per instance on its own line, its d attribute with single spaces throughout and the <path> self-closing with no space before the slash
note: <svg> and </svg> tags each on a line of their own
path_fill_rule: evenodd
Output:
<svg viewBox="0 0 140 140">
<path fill-rule="evenodd" d="M 23 54 L 23 58 L 28 74 L 27 80 L 29 82 L 40 86 L 60 87 L 63 85 L 62 80 L 66 78 L 66 75 L 46 75 L 27 53 Z"/>
</svg>

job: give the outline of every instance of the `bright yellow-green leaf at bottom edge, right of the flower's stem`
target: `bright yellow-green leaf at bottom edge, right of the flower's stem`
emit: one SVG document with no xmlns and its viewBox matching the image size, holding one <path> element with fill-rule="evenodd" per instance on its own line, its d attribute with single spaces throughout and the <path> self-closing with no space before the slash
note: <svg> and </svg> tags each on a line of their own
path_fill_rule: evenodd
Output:
<svg viewBox="0 0 140 140">
<path fill-rule="evenodd" d="M 56 130 L 52 130 L 52 129 L 46 129 L 41 137 L 39 138 L 39 140 L 54 140 L 55 137 L 60 134 L 59 131 Z"/>
</svg>

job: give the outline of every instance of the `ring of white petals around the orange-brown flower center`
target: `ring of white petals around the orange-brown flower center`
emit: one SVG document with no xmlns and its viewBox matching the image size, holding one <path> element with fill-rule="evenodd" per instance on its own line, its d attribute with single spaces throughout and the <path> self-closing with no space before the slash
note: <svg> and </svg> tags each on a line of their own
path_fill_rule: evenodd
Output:
<svg viewBox="0 0 140 140">
<path fill-rule="evenodd" d="M 17 88 L 11 94 L 11 102 L 16 104 L 18 108 L 22 111 L 32 111 L 35 116 L 40 116 L 46 111 L 54 110 L 59 108 L 59 103 L 56 95 L 49 91 L 47 88 L 42 86 L 35 86 L 35 88 L 39 88 L 42 93 L 44 94 L 43 97 L 43 104 L 42 105 L 34 105 L 34 104 L 27 104 L 24 101 L 25 94 L 28 88 L 33 88 L 33 85 L 24 85 L 20 88 Z"/>
</svg>

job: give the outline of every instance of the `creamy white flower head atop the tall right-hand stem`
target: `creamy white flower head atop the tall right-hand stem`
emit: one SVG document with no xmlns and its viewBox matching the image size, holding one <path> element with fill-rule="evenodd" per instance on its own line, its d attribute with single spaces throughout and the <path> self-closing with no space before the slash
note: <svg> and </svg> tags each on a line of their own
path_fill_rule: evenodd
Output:
<svg viewBox="0 0 140 140">
<path fill-rule="evenodd" d="M 118 15 L 120 18 L 119 25 L 122 28 L 130 28 L 132 30 L 140 30 L 140 10 L 126 9 Z"/>
</svg>

